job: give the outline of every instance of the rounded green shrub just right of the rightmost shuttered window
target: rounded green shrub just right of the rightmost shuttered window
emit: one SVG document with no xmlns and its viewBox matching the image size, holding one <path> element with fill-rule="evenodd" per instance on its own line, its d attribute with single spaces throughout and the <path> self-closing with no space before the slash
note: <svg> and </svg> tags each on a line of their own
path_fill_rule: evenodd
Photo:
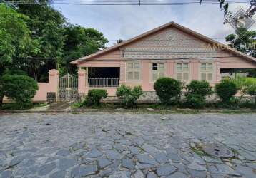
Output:
<svg viewBox="0 0 256 178">
<path fill-rule="evenodd" d="M 230 103 L 230 98 L 237 93 L 237 90 L 237 85 L 231 80 L 222 80 L 215 85 L 215 91 L 223 103 Z"/>
</svg>

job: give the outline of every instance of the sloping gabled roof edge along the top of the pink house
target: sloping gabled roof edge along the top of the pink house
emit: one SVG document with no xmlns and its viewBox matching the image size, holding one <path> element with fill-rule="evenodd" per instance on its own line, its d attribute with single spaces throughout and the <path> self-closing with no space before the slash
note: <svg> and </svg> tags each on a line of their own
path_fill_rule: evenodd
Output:
<svg viewBox="0 0 256 178">
<path fill-rule="evenodd" d="M 79 58 L 79 59 L 77 59 L 77 60 L 75 60 L 75 61 L 72 61 L 71 63 L 72 63 L 72 64 L 78 64 L 80 61 L 89 60 L 89 59 L 95 58 L 95 57 L 97 57 L 97 56 L 100 56 L 100 55 L 102 55 L 102 54 L 104 54 L 104 53 L 107 53 L 107 52 L 110 52 L 110 51 L 114 51 L 114 50 L 116 50 L 116 49 L 118 49 L 118 48 L 121 48 L 121 47 L 123 47 L 123 46 L 126 46 L 126 45 L 129 44 L 129 43 L 133 43 L 134 41 L 137 41 L 137 40 L 139 40 L 139 39 L 141 39 L 141 38 L 144 38 L 144 37 L 146 37 L 146 36 L 151 35 L 152 33 L 156 33 L 157 31 L 161 31 L 162 29 L 168 28 L 168 27 L 171 27 L 171 26 L 172 26 L 172 27 L 175 27 L 175 28 L 178 28 L 180 31 L 183 31 L 184 33 L 189 33 L 190 35 L 195 36 L 196 38 L 199 38 L 199 39 L 201 39 L 202 41 L 205 41 L 205 42 L 211 43 L 211 44 L 216 44 L 216 45 L 218 45 L 218 46 L 220 46 L 220 47 L 223 47 L 223 48 L 225 48 L 226 51 L 230 51 L 231 53 L 234 53 L 235 55 L 237 55 L 237 57 L 241 56 L 242 58 L 245 58 L 245 59 L 247 59 L 247 60 L 256 62 L 256 58 L 253 58 L 253 57 L 251 57 L 251 56 L 245 56 L 245 53 L 242 53 L 242 52 L 240 52 L 240 51 L 237 51 L 235 48 L 230 48 L 230 47 L 227 48 L 227 46 L 225 46 L 225 44 L 222 44 L 222 43 L 220 43 L 220 42 L 218 42 L 218 41 L 215 41 L 215 40 L 213 40 L 213 39 L 211 39 L 211 38 L 208 38 L 207 36 L 203 36 L 203 35 L 200 34 L 200 33 L 197 33 L 197 32 L 195 32 L 195 31 L 192 31 L 192 30 L 190 30 L 189 28 L 186 28 L 186 27 L 184 27 L 184 26 L 179 25 L 178 23 L 175 23 L 174 21 L 171 21 L 171 22 L 166 23 L 166 24 L 164 24 L 164 25 L 162 25 L 162 26 L 159 26 L 159 27 L 157 27 L 157 28 L 152 29 L 151 31 L 147 31 L 146 33 L 142 33 L 141 35 L 136 36 L 136 37 L 134 37 L 134 38 L 131 38 L 131 39 L 127 40 L 127 41 L 124 41 L 124 42 L 119 43 L 119 44 L 117 44 L 117 45 L 114 45 L 114 46 L 112 46 L 112 47 L 106 48 L 106 49 L 104 49 L 104 50 L 102 50 L 102 51 L 98 51 L 98 52 L 96 52 L 96 53 L 92 53 L 92 54 L 89 55 L 89 56 L 84 56 L 84 57 L 82 57 L 82 58 Z"/>
</svg>

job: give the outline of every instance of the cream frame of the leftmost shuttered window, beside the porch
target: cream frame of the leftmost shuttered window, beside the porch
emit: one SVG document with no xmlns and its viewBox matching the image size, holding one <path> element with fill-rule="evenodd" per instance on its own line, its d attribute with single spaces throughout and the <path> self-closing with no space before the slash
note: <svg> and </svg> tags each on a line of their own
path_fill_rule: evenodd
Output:
<svg viewBox="0 0 256 178">
<path fill-rule="evenodd" d="M 129 69 L 129 63 L 132 63 L 132 70 Z M 139 63 L 139 70 L 136 70 L 135 63 Z M 128 73 L 132 72 L 132 79 L 128 78 Z M 135 79 L 135 72 L 139 72 L 139 79 Z M 141 61 L 127 61 L 125 64 L 125 80 L 127 82 L 136 82 L 140 83 L 142 81 L 142 62 Z"/>
</svg>

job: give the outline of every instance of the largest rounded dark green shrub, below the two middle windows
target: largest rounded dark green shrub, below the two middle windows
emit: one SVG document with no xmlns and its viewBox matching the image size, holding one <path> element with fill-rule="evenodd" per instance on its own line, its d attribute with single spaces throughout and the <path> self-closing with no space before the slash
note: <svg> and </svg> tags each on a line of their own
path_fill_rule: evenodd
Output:
<svg viewBox="0 0 256 178">
<path fill-rule="evenodd" d="M 154 90 L 165 105 L 177 102 L 182 91 L 182 84 L 172 78 L 159 78 L 154 83 Z"/>
</svg>

